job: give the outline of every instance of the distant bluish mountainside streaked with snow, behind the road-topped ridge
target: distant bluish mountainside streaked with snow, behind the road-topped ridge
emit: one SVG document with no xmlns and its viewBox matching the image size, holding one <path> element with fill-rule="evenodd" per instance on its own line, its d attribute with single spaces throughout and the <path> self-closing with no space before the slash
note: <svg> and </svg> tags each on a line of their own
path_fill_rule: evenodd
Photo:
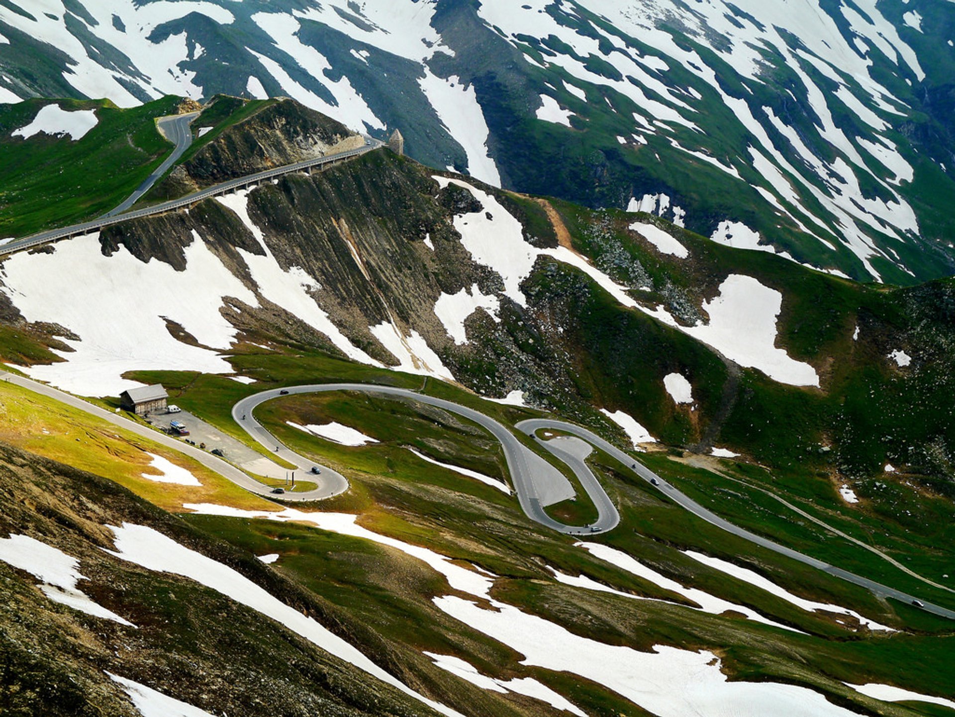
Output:
<svg viewBox="0 0 955 717">
<path fill-rule="evenodd" d="M 955 267 L 955 5 L 476 5 L 10 0 L 0 100 L 289 95 L 433 166 L 859 279 Z"/>
</svg>

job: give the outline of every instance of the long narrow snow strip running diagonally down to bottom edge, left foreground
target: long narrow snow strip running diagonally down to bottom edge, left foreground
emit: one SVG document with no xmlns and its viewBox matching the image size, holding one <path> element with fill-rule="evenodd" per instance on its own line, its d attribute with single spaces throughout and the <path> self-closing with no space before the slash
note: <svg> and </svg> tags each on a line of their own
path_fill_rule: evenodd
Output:
<svg viewBox="0 0 955 717">
<path fill-rule="evenodd" d="M 402 692 L 428 706 L 432 706 L 442 714 L 458 715 L 455 710 L 419 695 L 411 687 L 395 679 L 377 664 L 372 663 L 350 643 L 329 632 L 328 629 L 306 617 L 298 610 L 289 607 L 285 602 L 269 595 L 263 588 L 232 568 L 223 565 L 223 563 L 206 558 L 201 553 L 190 550 L 144 525 L 124 523 L 121 527 L 108 527 L 116 536 L 116 551 L 107 551 L 110 555 L 134 562 L 148 570 L 172 573 L 195 580 L 276 622 L 284 624 L 292 632 L 301 635 L 309 642 L 368 672 L 382 682 L 397 687 Z"/>
</svg>

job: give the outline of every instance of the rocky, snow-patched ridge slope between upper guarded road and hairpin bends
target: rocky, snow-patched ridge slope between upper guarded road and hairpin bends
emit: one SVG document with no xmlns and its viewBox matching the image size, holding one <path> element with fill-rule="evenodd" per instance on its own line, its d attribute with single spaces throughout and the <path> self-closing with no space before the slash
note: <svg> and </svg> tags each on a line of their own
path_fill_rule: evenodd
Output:
<svg viewBox="0 0 955 717">
<path fill-rule="evenodd" d="M 832 445 L 819 460 L 842 474 L 947 476 L 953 292 L 859 285 L 381 149 L 5 257 L 0 359 L 117 395 L 306 351 L 323 362 L 306 380 L 393 368 L 621 440 L 786 465 Z"/>
</svg>

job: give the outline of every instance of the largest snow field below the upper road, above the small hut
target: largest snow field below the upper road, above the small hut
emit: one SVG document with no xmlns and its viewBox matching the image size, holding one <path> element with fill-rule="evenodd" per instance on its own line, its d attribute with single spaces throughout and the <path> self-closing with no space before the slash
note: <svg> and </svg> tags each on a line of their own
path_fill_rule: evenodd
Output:
<svg viewBox="0 0 955 717">
<path fill-rule="evenodd" d="M 59 324 L 80 337 L 63 339 L 74 351 L 54 349 L 63 363 L 24 370 L 34 379 L 87 396 L 118 395 L 141 386 L 120 377 L 135 369 L 231 373 L 214 350 L 183 344 L 166 327 L 168 318 L 202 346 L 227 348 L 235 328 L 219 312 L 223 296 L 258 306 L 206 244 L 198 236 L 194 240 L 184 249 L 185 271 L 157 259 L 140 262 L 125 246 L 105 257 L 98 233 L 57 243 L 50 254 L 11 256 L 4 263 L 2 290 L 27 321 Z M 143 286 L 163 290 L 143 291 Z M 171 296 L 189 301 L 170 301 Z"/>
</svg>

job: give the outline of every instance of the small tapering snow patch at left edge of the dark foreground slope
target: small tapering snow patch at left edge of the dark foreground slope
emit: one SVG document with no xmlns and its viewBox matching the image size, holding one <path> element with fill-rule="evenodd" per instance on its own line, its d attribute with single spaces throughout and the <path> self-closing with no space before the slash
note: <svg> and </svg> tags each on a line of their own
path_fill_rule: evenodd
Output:
<svg viewBox="0 0 955 717">
<path fill-rule="evenodd" d="M 79 560 L 54 548 L 53 545 L 47 545 L 30 536 L 11 535 L 10 538 L 0 538 L 0 560 L 20 570 L 26 570 L 37 580 L 42 580 L 40 590 L 53 602 L 59 602 L 95 618 L 136 627 L 112 610 L 92 601 L 81 590 L 77 590 L 76 583 L 86 580 L 77 569 Z"/>
</svg>

